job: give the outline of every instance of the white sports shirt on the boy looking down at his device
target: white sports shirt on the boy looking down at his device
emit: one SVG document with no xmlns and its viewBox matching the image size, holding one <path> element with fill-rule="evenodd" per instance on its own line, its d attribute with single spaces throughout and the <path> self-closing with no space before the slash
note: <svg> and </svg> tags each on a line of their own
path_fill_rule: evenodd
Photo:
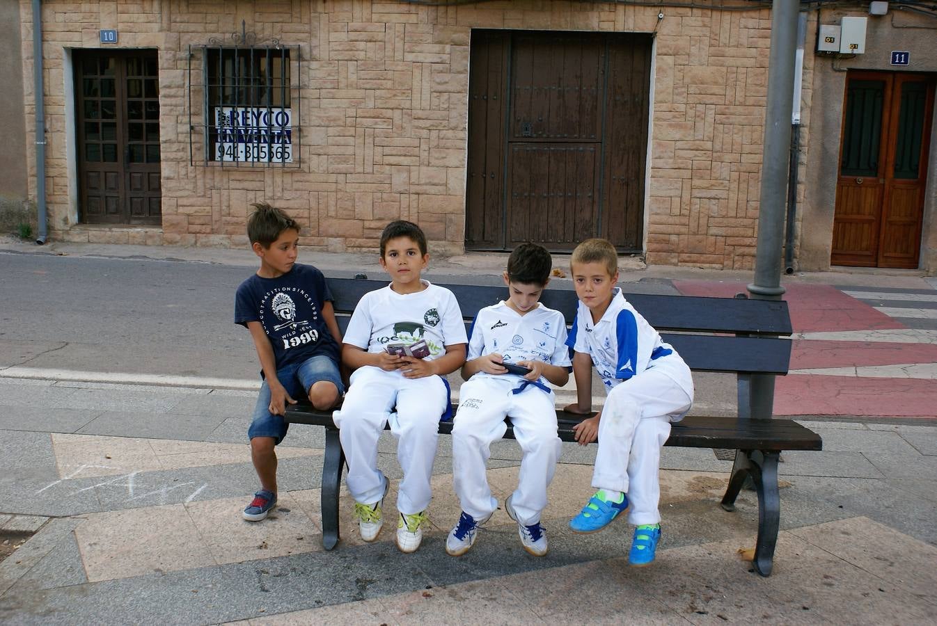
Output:
<svg viewBox="0 0 937 626">
<path fill-rule="evenodd" d="M 497 352 L 506 363 L 537 360 L 568 368 L 572 365 L 570 351 L 566 347 L 566 321 L 563 314 L 549 309 L 540 302 L 537 308 L 521 315 L 507 302 L 484 307 L 472 322 L 468 340 L 468 359 Z M 511 372 L 489 374 L 476 372 L 475 376 L 488 378 L 522 378 Z M 538 381 L 545 388 L 545 379 Z"/>
</svg>

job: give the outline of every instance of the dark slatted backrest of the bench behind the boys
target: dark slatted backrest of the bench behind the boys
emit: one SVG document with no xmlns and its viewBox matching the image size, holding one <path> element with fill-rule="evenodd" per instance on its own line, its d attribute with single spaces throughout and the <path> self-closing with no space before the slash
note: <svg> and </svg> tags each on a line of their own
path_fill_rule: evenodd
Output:
<svg viewBox="0 0 937 626">
<path fill-rule="evenodd" d="M 339 328 L 344 332 L 358 300 L 388 284 L 353 278 L 330 278 L 329 288 Z M 480 309 L 507 298 L 501 285 L 440 284 L 451 289 L 458 300 L 466 329 Z M 784 374 L 791 357 L 791 342 L 778 336 L 792 332 L 787 303 L 782 300 L 748 298 L 699 298 L 634 294 L 624 296 L 671 343 L 694 371 L 735 372 L 745 378 L 753 373 Z M 541 301 L 573 324 L 576 294 L 572 289 L 547 287 Z M 743 381 L 740 379 L 739 383 Z M 747 387 L 747 384 L 746 384 Z M 741 389 L 740 389 L 741 390 Z M 740 400 L 742 400 L 740 398 Z"/>
</svg>

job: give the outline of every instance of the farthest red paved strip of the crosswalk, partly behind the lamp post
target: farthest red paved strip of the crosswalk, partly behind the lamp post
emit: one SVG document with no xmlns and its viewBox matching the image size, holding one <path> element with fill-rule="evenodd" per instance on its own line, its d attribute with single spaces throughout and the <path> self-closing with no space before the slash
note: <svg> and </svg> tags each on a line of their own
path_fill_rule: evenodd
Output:
<svg viewBox="0 0 937 626">
<path fill-rule="evenodd" d="M 674 281 L 677 291 L 687 296 L 732 298 L 747 293 L 744 283 L 718 281 Z M 828 284 L 787 284 L 787 300 L 795 332 L 829 330 L 885 330 L 906 328 L 865 302 L 847 296 Z"/>
</svg>

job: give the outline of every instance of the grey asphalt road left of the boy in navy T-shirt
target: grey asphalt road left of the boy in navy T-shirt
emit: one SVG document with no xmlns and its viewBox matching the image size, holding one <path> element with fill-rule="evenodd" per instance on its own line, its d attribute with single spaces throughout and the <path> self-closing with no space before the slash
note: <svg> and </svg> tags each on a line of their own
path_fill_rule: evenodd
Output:
<svg viewBox="0 0 937 626">
<path fill-rule="evenodd" d="M 0 252 L 0 367 L 257 378 L 234 291 L 253 267 Z"/>
</svg>

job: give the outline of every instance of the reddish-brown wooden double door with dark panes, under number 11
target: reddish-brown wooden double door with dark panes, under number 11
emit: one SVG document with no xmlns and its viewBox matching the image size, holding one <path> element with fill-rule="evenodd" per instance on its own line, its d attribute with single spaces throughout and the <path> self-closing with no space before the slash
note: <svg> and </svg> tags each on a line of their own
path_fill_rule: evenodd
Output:
<svg viewBox="0 0 937 626">
<path fill-rule="evenodd" d="M 933 101 L 931 75 L 847 75 L 832 265 L 917 268 Z"/>
</svg>

